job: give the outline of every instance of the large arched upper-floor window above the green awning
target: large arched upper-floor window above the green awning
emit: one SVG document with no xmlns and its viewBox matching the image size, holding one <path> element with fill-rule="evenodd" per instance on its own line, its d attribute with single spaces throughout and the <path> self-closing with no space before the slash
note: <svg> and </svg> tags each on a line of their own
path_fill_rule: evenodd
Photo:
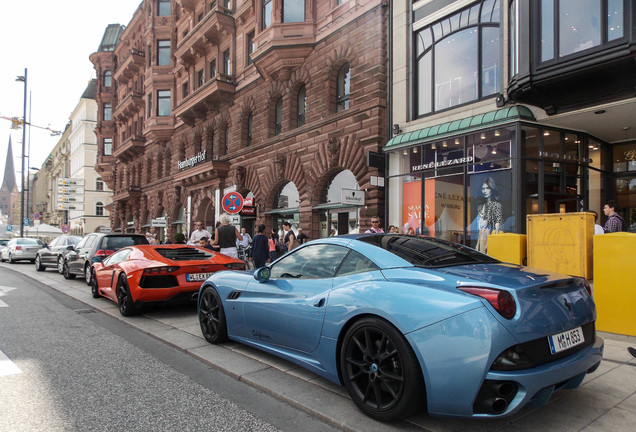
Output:
<svg viewBox="0 0 636 432">
<path fill-rule="evenodd" d="M 499 3 L 482 0 L 416 31 L 417 116 L 500 91 Z"/>
</svg>

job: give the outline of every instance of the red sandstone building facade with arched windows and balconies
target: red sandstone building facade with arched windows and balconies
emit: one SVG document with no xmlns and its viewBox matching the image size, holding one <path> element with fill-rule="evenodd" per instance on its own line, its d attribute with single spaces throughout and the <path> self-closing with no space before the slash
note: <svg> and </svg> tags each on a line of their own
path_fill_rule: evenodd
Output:
<svg viewBox="0 0 636 432">
<path fill-rule="evenodd" d="M 382 1 L 305 0 L 304 20 L 283 12 L 298 0 L 173 0 L 167 16 L 160 3 L 143 1 L 114 50 L 91 55 L 113 229 L 213 226 L 228 190 L 252 201 L 250 231 L 292 220 L 317 238 L 384 214 L 383 173 L 367 166 L 387 136 Z M 342 173 L 363 204 L 340 200 Z"/>
</svg>

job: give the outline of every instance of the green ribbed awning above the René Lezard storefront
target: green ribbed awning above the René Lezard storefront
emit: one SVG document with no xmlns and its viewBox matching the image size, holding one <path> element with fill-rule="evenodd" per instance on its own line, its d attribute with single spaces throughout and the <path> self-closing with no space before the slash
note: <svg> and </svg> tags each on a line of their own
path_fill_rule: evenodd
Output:
<svg viewBox="0 0 636 432">
<path fill-rule="evenodd" d="M 384 151 L 409 147 L 415 144 L 423 144 L 430 141 L 436 141 L 451 135 L 460 135 L 475 130 L 496 126 L 503 123 L 509 123 L 515 120 L 536 121 L 532 111 L 523 105 L 514 105 L 507 108 L 501 108 L 490 111 L 485 114 L 479 114 L 472 117 L 466 117 L 460 120 L 453 120 L 435 126 L 429 126 L 413 132 L 407 132 L 397 135 L 389 140 L 384 147 Z"/>
</svg>

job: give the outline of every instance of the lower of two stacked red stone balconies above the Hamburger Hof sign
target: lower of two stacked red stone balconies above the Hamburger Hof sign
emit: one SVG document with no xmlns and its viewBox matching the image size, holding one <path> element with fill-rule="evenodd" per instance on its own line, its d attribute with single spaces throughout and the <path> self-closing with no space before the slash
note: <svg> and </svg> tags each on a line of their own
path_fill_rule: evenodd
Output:
<svg viewBox="0 0 636 432">
<path fill-rule="evenodd" d="M 217 75 L 185 98 L 174 109 L 174 115 L 193 125 L 197 118 L 205 119 L 209 112 L 218 112 L 220 104 L 231 103 L 235 92 L 236 84 L 232 77 Z"/>
</svg>

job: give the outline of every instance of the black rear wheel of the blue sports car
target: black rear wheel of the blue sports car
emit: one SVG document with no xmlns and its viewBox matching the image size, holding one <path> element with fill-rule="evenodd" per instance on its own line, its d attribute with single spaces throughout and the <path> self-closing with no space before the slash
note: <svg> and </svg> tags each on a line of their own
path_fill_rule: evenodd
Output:
<svg viewBox="0 0 636 432">
<path fill-rule="evenodd" d="M 353 402 L 373 419 L 403 419 L 425 407 L 417 358 L 404 336 L 382 319 L 362 318 L 347 330 L 340 370 Z"/>
</svg>

